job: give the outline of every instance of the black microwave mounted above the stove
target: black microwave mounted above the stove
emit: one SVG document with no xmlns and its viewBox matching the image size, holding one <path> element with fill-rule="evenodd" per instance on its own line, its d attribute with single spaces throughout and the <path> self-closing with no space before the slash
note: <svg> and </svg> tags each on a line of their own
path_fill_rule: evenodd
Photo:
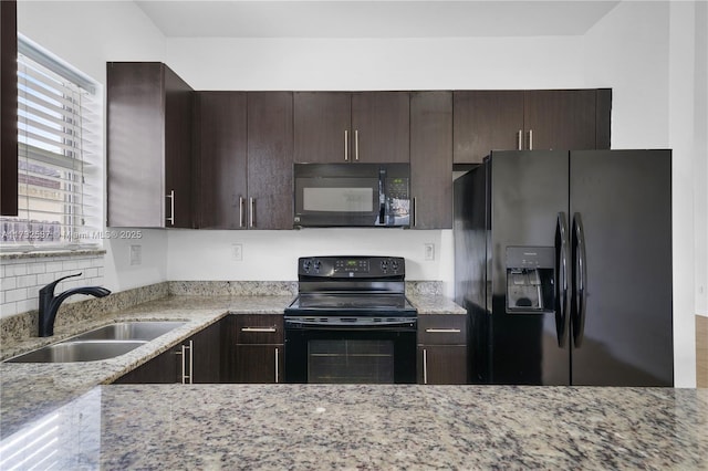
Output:
<svg viewBox="0 0 708 471">
<path fill-rule="evenodd" d="M 294 227 L 410 227 L 410 165 L 294 164 Z"/>
</svg>

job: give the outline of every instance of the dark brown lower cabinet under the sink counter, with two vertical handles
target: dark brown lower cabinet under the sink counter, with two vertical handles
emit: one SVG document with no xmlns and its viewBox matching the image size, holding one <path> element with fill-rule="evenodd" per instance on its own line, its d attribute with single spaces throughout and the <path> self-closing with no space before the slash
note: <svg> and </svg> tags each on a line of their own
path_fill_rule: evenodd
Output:
<svg viewBox="0 0 708 471">
<path fill-rule="evenodd" d="M 114 384 L 221 383 L 221 327 L 211 324 L 126 373 Z"/>
</svg>

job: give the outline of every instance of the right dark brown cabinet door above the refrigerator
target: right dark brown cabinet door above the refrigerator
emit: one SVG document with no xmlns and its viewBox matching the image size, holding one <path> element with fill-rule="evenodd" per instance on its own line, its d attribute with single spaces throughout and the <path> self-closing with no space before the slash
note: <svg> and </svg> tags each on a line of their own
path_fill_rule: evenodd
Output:
<svg viewBox="0 0 708 471">
<path fill-rule="evenodd" d="M 525 92 L 525 148 L 594 149 L 595 100 L 595 90 Z"/>
</svg>

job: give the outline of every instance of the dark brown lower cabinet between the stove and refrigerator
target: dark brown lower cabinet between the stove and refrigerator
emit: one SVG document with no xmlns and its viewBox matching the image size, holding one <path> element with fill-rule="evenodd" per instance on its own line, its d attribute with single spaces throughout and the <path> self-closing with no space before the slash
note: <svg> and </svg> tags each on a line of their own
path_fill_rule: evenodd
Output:
<svg viewBox="0 0 708 471">
<path fill-rule="evenodd" d="M 467 384 L 467 315 L 418 316 L 417 354 L 419 384 Z"/>
</svg>

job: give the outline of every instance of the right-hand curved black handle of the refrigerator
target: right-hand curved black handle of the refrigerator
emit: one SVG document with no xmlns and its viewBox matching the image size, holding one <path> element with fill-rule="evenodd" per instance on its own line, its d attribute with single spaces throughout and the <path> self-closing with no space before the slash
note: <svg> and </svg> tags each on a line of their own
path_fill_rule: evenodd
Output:
<svg viewBox="0 0 708 471">
<path fill-rule="evenodd" d="M 585 304 L 587 297 L 587 264 L 585 257 L 585 233 L 580 212 L 573 214 L 573 299 L 571 300 L 571 315 L 573 329 L 573 345 L 583 344 L 585 333 Z"/>
</svg>

